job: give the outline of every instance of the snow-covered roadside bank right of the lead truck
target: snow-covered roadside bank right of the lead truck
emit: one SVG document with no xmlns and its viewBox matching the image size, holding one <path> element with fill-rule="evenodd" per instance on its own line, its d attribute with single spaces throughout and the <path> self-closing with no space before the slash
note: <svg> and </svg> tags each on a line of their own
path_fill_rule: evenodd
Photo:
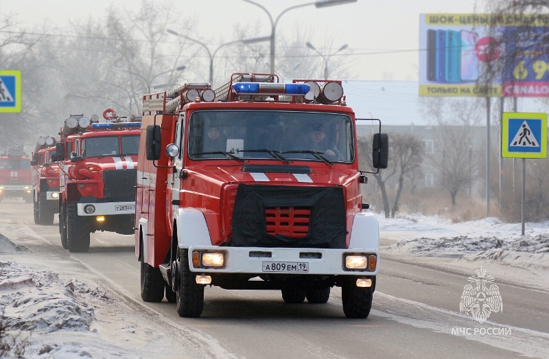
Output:
<svg viewBox="0 0 549 359">
<path fill-rule="evenodd" d="M 378 216 L 382 259 L 470 275 L 484 266 L 497 281 L 549 290 L 549 222 L 503 223 L 498 218 L 452 223 L 421 214 Z M 383 241 L 385 240 L 385 241 Z"/>
</svg>

